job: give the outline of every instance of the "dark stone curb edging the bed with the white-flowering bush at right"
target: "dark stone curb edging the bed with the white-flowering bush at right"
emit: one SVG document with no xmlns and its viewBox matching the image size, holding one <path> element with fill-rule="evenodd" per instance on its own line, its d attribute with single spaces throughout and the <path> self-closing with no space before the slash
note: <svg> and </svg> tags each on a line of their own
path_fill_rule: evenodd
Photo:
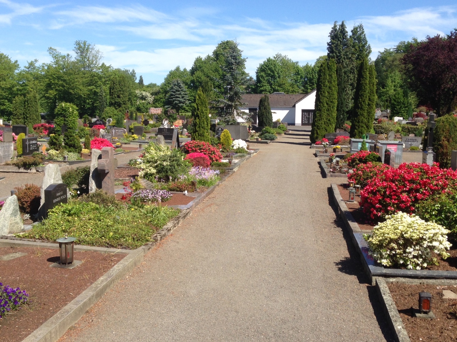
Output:
<svg viewBox="0 0 457 342">
<path fill-rule="evenodd" d="M 360 255 L 363 268 L 370 277 L 372 285 L 375 285 L 377 277 L 408 277 L 408 278 L 431 278 L 431 279 L 457 279 L 457 271 L 430 271 L 427 269 L 387 269 L 378 266 L 372 256 L 368 253 L 368 244 L 363 238 L 363 233 L 371 231 L 362 231 L 359 225 L 352 217 L 351 212 L 347 209 L 343 198 L 340 195 L 336 184 L 331 184 L 333 199 L 338 207 L 338 212 L 349 230 L 352 243 Z"/>
</svg>

